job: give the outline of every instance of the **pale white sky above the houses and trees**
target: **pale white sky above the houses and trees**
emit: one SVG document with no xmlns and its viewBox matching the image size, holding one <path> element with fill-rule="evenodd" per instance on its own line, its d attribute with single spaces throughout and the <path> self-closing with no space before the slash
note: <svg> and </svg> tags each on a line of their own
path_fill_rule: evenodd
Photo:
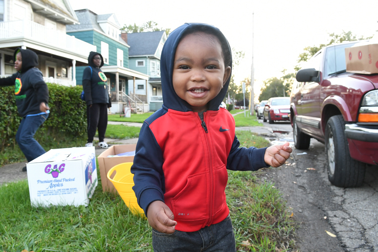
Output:
<svg viewBox="0 0 378 252">
<path fill-rule="evenodd" d="M 115 13 L 121 26 L 147 21 L 174 30 L 184 23 L 218 27 L 244 58 L 233 70 L 236 84 L 251 75 L 255 93 L 263 82 L 294 72 L 307 46 L 327 43 L 329 33 L 372 36 L 378 30 L 378 0 L 71 0 L 74 10 Z M 254 15 L 253 15 L 254 13 Z"/>
</svg>

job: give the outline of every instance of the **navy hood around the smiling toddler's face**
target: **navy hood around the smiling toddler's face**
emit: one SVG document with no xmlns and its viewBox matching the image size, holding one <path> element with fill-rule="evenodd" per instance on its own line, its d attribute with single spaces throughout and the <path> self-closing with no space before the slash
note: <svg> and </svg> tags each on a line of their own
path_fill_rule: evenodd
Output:
<svg viewBox="0 0 378 252">
<path fill-rule="evenodd" d="M 184 100 L 182 100 L 173 88 L 172 83 L 172 75 L 173 75 L 173 65 L 174 65 L 174 56 L 176 53 L 176 48 L 180 40 L 188 33 L 194 32 L 205 32 L 211 31 L 211 34 L 215 35 L 221 42 L 222 50 L 228 50 L 230 55 L 230 62 L 228 66 L 231 67 L 232 70 L 232 59 L 231 59 L 231 49 L 228 44 L 226 37 L 223 33 L 216 27 L 207 24 L 200 24 L 200 23 L 185 23 L 184 25 L 178 27 L 174 31 L 172 31 L 165 44 L 163 46 L 160 58 L 160 72 L 161 72 L 161 88 L 163 92 L 163 103 L 164 106 L 177 110 L 177 111 L 192 111 L 191 106 Z M 224 52 L 223 52 L 224 54 Z M 225 55 L 223 55 L 225 56 Z M 227 79 L 225 85 L 219 92 L 219 94 L 209 101 L 209 108 L 208 110 L 218 110 L 219 105 L 223 101 L 224 97 L 226 96 L 228 85 L 230 83 L 230 77 Z"/>
</svg>

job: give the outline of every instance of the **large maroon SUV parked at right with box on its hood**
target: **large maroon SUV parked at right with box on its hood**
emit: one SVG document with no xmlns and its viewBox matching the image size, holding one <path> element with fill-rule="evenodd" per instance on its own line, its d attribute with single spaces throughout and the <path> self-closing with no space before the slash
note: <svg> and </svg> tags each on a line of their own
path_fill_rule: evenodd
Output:
<svg viewBox="0 0 378 252">
<path fill-rule="evenodd" d="M 345 48 L 330 45 L 296 74 L 290 121 L 297 149 L 310 138 L 325 144 L 328 178 L 340 187 L 362 184 L 366 164 L 378 164 L 378 75 L 347 73 Z"/>
</svg>

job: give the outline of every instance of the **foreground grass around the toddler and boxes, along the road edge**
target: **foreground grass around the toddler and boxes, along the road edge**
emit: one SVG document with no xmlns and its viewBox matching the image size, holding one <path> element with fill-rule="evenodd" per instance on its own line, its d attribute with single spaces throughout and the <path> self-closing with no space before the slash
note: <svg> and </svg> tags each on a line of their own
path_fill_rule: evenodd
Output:
<svg viewBox="0 0 378 252">
<path fill-rule="evenodd" d="M 245 147 L 269 145 L 249 132 L 236 135 Z M 226 195 L 238 251 L 293 245 L 289 213 L 272 184 L 254 172 L 229 171 Z M 86 208 L 33 208 L 26 180 L 0 185 L 0 202 L 0 251 L 152 251 L 147 220 L 132 215 L 118 195 L 103 193 L 101 180 Z"/>
</svg>

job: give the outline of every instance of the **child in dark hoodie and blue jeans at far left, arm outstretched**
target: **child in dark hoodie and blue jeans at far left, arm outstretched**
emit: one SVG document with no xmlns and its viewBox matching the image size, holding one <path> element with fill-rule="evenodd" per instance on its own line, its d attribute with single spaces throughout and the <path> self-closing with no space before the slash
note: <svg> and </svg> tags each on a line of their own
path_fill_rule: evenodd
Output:
<svg viewBox="0 0 378 252">
<path fill-rule="evenodd" d="M 50 112 L 47 105 L 48 89 L 41 71 L 36 68 L 38 55 L 34 51 L 17 48 L 14 58 L 17 73 L 0 79 L 0 86 L 15 85 L 17 110 L 22 116 L 16 141 L 30 162 L 45 153 L 42 146 L 34 139 L 34 134 Z M 26 167 L 23 171 L 26 171 Z"/>
</svg>

